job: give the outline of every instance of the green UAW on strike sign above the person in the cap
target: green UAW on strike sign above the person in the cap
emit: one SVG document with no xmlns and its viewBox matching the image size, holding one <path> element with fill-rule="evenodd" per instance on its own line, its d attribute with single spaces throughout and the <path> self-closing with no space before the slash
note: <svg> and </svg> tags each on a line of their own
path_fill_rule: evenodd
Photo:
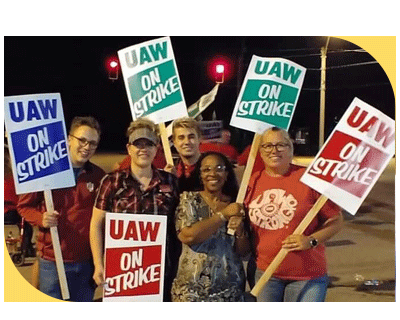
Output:
<svg viewBox="0 0 400 320">
<path fill-rule="evenodd" d="M 155 123 L 187 116 L 169 37 L 118 51 L 132 118 Z"/>
</svg>

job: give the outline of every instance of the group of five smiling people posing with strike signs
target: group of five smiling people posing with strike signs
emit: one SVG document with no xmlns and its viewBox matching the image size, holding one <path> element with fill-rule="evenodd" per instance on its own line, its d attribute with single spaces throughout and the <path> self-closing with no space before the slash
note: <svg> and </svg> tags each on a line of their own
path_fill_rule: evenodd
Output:
<svg viewBox="0 0 400 320">
<path fill-rule="evenodd" d="M 178 162 L 154 166 L 160 137 L 147 119 L 127 130 L 129 165 L 106 174 L 90 162 L 100 141 L 92 117 L 76 117 L 68 136 L 76 186 L 53 190 L 55 211 L 46 211 L 42 192 L 19 197 L 18 212 L 38 226 L 39 285 L 61 299 L 49 228 L 58 227 L 72 301 L 92 301 L 104 278 L 106 212 L 167 216 L 164 301 L 243 301 L 250 285 L 281 248 L 286 259 L 258 301 L 324 301 L 328 285 L 323 243 L 342 226 L 330 201 L 302 235 L 293 231 L 318 198 L 299 179 L 305 168 L 291 163 L 286 131 L 262 136 L 265 168 L 253 174 L 244 204 L 236 203 L 238 182 L 225 155 L 201 152 L 199 124 L 173 122 Z M 227 233 L 235 231 L 234 235 Z M 247 273 L 243 257 L 250 257 Z"/>
</svg>

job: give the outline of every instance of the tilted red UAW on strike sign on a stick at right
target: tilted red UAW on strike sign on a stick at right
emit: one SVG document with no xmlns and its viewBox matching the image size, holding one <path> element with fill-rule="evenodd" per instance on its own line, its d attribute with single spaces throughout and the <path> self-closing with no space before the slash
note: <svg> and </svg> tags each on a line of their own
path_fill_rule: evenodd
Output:
<svg viewBox="0 0 400 320">
<path fill-rule="evenodd" d="M 300 181 L 356 214 L 395 152 L 395 122 L 355 98 Z"/>
</svg>

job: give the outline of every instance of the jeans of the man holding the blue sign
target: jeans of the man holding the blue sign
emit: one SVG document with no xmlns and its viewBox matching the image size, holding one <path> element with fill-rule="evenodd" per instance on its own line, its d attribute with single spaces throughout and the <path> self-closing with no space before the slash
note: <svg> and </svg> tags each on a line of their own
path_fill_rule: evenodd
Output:
<svg viewBox="0 0 400 320">
<path fill-rule="evenodd" d="M 93 300 L 96 285 L 91 262 L 64 263 L 67 277 L 70 301 L 90 302 Z M 56 263 L 49 260 L 39 260 L 40 291 L 50 297 L 62 300 L 61 287 L 58 280 Z"/>
</svg>

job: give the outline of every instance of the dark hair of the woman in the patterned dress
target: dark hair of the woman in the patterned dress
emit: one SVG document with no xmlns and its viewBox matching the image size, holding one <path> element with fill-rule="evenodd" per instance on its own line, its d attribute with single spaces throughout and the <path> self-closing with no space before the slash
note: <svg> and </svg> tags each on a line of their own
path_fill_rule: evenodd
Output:
<svg viewBox="0 0 400 320">
<path fill-rule="evenodd" d="M 200 167 L 201 163 L 203 160 L 208 157 L 208 156 L 216 156 L 220 158 L 225 165 L 226 172 L 228 173 L 226 182 L 224 186 L 222 187 L 222 193 L 226 196 L 229 196 L 231 198 L 231 201 L 236 201 L 236 197 L 239 191 L 239 186 L 236 180 L 236 175 L 235 171 L 233 170 L 233 165 L 231 161 L 222 153 L 215 152 L 215 151 L 209 151 L 202 153 L 199 160 L 197 161 L 196 168 L 194 169 L 194 177 L 196 178 L 196 185 L 198 186 L 203 186 L 203 182 L 201 181 L 201 172 L 200 172 Z M 196 191 L 202 191 L 203 187 L 199 187 L 198 190 Z"/>
</svg>

